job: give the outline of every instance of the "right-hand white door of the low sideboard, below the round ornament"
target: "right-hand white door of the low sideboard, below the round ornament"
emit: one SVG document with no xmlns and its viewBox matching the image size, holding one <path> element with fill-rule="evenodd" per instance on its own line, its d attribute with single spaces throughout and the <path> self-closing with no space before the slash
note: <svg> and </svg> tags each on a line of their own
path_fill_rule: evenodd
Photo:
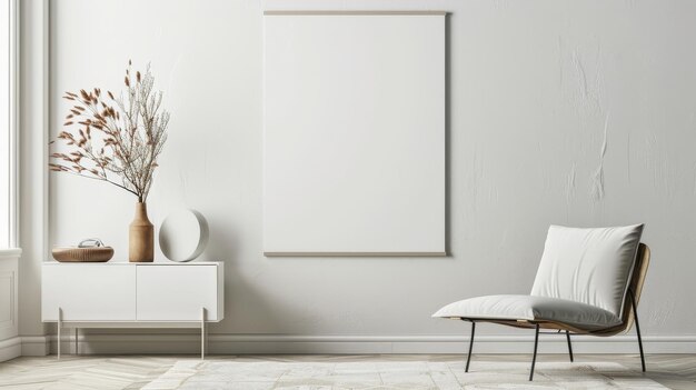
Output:
<svg viewBox="0 0 696 390">
<path fill-rule="evenodd" d="M 138 321 L 199 321 L 218 318 L 218 267 L 138 266 Z"/>
</svg>

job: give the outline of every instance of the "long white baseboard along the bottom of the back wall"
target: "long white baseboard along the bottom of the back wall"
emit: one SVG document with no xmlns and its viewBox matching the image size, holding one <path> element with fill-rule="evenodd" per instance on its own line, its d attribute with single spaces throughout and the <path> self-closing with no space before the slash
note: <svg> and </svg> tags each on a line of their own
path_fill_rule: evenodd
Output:
<svg viewBox="0 0 696 390">
<path fill-rule="evenodd" d="M 42 338 L 22 343 L 22 354 L 56 353 L 56 337 L 48 336 L 50 348 L 41 347 Z M 22 340 L 23 341 L 23 340 Z M 529 353 L 534 337 L 480 336 L 474 344 L 475 353 Z M 643 339 L 646 353 L 696 353 L 696 336 L 647 336 Z M 63 353 L 74 353 L 74 337 L 62 339 Z M 88 334 L 78 339 L 80 353 L 199 353 L 197 334 Z M 272 354 L 272 353 L 465 353 L 468 337 L 449 336 L 282 336 L 282 334 L 210 334 L 207 353 L 211 354 Z M 576 353 L 637 353 L 634 334 L 609 338 L 575 336 Z M 565 334 L 544 334 L 539 353 L 567 353 Z"/>
</svg>

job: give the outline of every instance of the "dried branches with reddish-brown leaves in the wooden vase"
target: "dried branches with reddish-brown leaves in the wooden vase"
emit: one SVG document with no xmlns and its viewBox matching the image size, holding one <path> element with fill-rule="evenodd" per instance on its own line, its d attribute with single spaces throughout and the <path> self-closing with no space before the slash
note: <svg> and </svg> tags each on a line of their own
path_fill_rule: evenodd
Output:
<svg viewBox="0 0 696 390">
<path fill-rule="evenodd" d="M 63 126 L 73 131 L 61 131 L 58 140 L 71 151 L 52 153 L 56 162 L 49 167 L 56 172 L 109 182 L 146 202 L 157 158 L 167 141 L 169 112 L 160 109 L 162 92 L 153 92 L 149 64 L 145 74 L 137 71 L 133 80 L 128 61 L 123 83 L 126 93 L 119 98 L 111 91 L 103 96 L 99 88 L 66 92 L 63 98 L 74 106 Z"/>
</svg>

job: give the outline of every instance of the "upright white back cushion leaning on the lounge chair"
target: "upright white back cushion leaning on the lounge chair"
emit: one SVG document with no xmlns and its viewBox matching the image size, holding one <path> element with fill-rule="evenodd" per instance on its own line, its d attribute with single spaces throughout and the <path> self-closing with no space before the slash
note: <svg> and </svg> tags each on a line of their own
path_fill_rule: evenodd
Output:
<svg viewBox="0 0 696 390">
<path fill-rule="evenodd" d="M 620 317 L 643 224 L 551 226 L 531 296 L 591 304 Z"/>
</svg>

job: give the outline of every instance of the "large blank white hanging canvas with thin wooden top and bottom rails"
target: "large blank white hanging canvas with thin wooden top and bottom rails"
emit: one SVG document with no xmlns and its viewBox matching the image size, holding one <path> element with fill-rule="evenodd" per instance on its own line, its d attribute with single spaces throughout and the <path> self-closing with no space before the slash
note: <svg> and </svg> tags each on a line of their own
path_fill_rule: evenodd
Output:
<svg viewBox="0 0 696 390">
<path fill-rule="evenodd" d="M 445 14 L 265 16 L 267 256 L 445 254 Z"/>
</svg>

